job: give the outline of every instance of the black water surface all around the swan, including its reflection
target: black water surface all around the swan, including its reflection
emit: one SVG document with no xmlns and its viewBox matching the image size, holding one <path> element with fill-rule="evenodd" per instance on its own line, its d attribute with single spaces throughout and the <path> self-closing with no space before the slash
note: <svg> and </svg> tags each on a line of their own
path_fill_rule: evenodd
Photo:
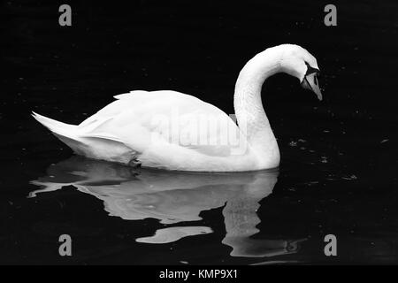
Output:
<svg viewBox="0 0 398 283">
<path fill-rule="evenodd" d="M 1 264 L 396 264 L 398 4 L 293 1 L 1 6 Z M 30 111 L 79 123 L 132 89 L 174 89 L 233 113 L 256 52 L 318 58 L 325 100 L 267 80 L 278 172 L 133 170 L 73 157 Z M 58 255 L 70 234 L 73 256 Z M 338 256 L 326 257 L 333 233 Z"/>
</svg>

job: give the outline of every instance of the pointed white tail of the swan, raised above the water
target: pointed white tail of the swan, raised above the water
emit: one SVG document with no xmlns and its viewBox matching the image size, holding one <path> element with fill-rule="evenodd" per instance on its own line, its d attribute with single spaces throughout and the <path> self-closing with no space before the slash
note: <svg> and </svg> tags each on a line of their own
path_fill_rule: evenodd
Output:
<svg viewBox="0 0 398 283">
<path fill-rule="evenodd" d="M 52 134 L 57 136 L 59 140 L 65 142 L 65 144 L 71 149 L 73 149 L 73 151 L 75 151 L 78 154 L 81 154 L 81 149 L 84 146 L 84 144 L 79 139 L 77 126 L 65 124 L 55 119 L 50 119 L 34 112 L 32 116 L 34 119 L 40 122 L 42 126 L 47 127 L 52 132 Z"/>
</svg>

